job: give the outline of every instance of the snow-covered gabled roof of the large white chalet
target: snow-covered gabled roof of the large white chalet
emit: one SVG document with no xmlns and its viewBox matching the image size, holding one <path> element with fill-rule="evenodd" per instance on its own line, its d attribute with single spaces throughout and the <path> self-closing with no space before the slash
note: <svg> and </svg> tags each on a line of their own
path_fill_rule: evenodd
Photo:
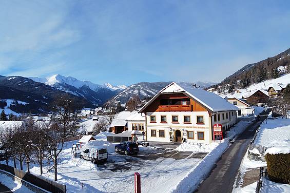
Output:
<svg viewBox="0 0 290 193">
<path fill-rule="evenodd" d="M 211 111 L 227 111 L 227 110 L 239 110 L 233 104 L 225 101 L 219 95 L 208 92 L 199 88 L 189 87 L 189 86 L 180 86 L 177 83 L 173 82 L 163 88 L 158 94 L 156 94 L 146 105 L 144 105 L 139 112 L 142 112 L 149 104 L 154 101 L 162 93 L 185 93 L 190 98 L 198 101 L 206 108 Z"/>
</svg>

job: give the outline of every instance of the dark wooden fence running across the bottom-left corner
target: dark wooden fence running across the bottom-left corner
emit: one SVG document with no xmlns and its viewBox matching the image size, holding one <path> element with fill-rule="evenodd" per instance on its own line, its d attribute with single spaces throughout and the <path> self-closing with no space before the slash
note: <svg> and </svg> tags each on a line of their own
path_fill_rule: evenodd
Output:
<svg viewBox="0 0 290 193">
<path fill-rule="evenodd" d="M 22 170 L 18 170 L 14 167 L 11 167 L 9 165 L 0 164 L 0 169 L 5 170 L 9 173 L 11 173 L 13 176 L 16 176 L 26 182 L 29 182 L 37 187 L 40 187 L 42 189 L 45 189 L 50 192 L 55 193 L 66 193 L 66 185 L 56 183 L 51 180 L 47 180 L 41 177 L 37 177 L 32 175 L 31 173 L 27 173 Z"/>
</svg>

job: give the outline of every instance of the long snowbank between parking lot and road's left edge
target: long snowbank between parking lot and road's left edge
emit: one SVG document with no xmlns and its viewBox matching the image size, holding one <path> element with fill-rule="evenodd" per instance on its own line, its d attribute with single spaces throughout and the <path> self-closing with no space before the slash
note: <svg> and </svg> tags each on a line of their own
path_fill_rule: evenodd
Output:
<svg viewBox="0 0 290 193">
<path fill-rule="evenodd" d="M 169 192 L 178 193 L 194 191 L 198 187 L 199 183 L 208 176 L 211 168 L 214 167 L 214 164 L 219 160 L 223 152 L 229 147 L 228 140 L 242 133 L 249 124 L 250 122 L 240 121 L 230 129 L 228 132 L 228 138 L 223 139 L 220 143 L 207 145 L 207 149 L 213 149 L 202 159 L 202 161 L 200 161 L 195 167 L 187 172 L 186 176 L 177 185 L 173 186 Z M 191 146 L 191 144 L 189 146 L 181 144 L 177 148 L 188 149 L 195 152 L 201 150 L 201 148 Z M 203 147 L 203 149 L 205 148 Z"/>
</svg>

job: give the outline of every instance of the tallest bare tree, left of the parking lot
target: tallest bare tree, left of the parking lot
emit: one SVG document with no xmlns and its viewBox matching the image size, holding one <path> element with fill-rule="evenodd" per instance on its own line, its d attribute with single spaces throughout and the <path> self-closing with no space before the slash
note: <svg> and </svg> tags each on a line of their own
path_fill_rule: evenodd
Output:
<svg viewBox="0 0 290 193">
<path fill-rule="evenodd" d="M 79 123 L 78 114 L 83 104 L 64 94 L 53 102 L 53 125 L 46 132 L 49 142 L 49 156 L 53 161 L 54 181 L 57 180 L 57 162 L 63 150 L 65 139 L 73 135 Z"/>
</svg>

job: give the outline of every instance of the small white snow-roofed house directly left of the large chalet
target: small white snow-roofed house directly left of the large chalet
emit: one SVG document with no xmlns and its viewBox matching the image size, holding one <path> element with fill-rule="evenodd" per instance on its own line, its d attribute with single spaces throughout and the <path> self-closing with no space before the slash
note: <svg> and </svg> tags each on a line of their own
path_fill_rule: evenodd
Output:
<svg viewBox="0 0 290 193">
<path fill-rule="evenodd" d="M 135 112 L 126 119 L 128 122 L 128 131 L 137 130 L 140 132 L 145 131 L 145 115 Z"/>
</svg>

